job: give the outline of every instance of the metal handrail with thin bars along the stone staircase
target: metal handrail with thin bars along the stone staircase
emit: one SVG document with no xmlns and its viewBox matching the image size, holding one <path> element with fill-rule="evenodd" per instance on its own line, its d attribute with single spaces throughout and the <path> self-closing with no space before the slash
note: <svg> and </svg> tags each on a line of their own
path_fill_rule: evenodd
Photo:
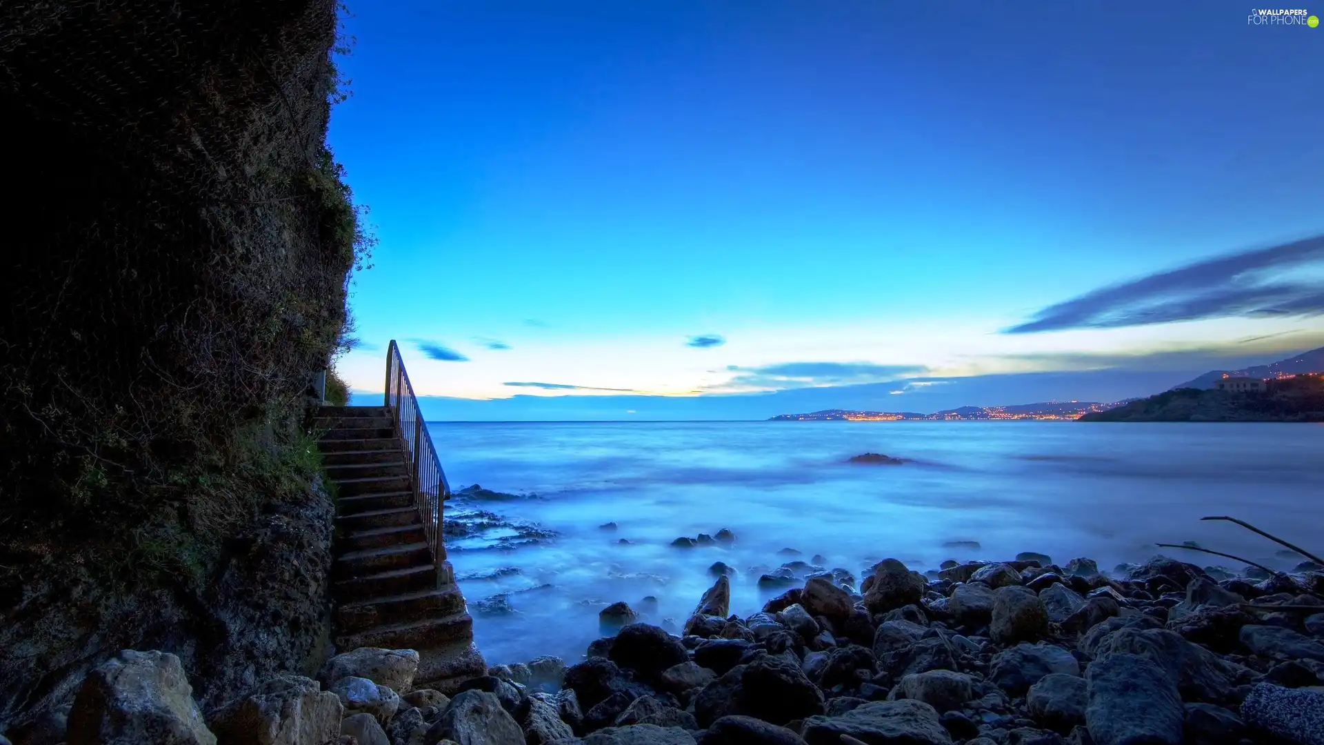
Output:
<svg viewBox="0 0 1324 745">
<path fill-rule="evenodd" d="M 396 430 L 405 441 L 405 457 L 413 476 L 414 505 L 422 517 L 424 534 L 441 579 L 441 562 L 446 558 L 446 547 L 441 536 L 441 513 L 450 497 L 450 484 L 446 472 L 441 469 L 437 447 L 422 420 L 418 398 L 405 372 L 405 361 L 400 358 L 400 346 L 391 339 L 387 349 L 387 394 L 385 404 L 395 420 Z"/>
</svg>

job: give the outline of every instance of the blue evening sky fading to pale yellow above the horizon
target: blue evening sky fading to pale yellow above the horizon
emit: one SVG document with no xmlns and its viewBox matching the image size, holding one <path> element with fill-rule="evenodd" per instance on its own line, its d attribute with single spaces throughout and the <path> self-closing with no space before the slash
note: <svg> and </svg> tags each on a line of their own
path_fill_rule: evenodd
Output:
<svg viewBox="0 0 1324 745">
<path fill-rule="evenodd" d="M 391 338 L 459 419 L 1139 395 L 1324 345 L 1324 257 L 1290 248 L 1324 233 L 1324 29 L 1231 3 L 351 11 L 330 142 L 380 239 L 356 390 Z M 895 384 L 920 376 L 964 384 Z"/>
</svg>

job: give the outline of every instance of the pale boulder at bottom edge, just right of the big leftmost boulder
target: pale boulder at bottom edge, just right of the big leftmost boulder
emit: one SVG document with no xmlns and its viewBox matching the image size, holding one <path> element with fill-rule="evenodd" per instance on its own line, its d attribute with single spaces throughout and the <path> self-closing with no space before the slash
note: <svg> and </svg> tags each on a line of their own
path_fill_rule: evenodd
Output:
<svg viewBox="0 0 1324 745">
<path fill-rule="evenodd" d="M 340 732 L 344 707 L 316 680 L 281 675 L 212 713 L 212 732 L 225 744 L 322 745 Z"/>
</svg>

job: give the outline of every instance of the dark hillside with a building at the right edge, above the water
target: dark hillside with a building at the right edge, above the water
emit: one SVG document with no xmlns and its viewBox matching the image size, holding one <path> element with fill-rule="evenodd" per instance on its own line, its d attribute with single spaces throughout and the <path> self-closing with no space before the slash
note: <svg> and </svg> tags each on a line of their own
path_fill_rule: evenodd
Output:
<svg viewBox="0 0 1324 745">
<path fill-rule="evenodd" d="M 1262 394 L 1177 388 L 1080 422 L 1324 422 L 1324 375 L 1270 380 Z"/>
</svg>

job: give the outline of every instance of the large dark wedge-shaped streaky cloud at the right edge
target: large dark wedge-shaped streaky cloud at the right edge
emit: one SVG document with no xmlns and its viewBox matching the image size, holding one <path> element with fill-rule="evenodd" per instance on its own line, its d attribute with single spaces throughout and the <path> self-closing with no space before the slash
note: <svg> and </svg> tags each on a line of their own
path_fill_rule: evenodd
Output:
<svg viewBox="0 0 1324 745">
<path fill-rule="evenodd" d="M 1050 305 L 1008 334 L 1200 321 L 1324 315 L 1319 281 L 1286 277 L 1324 264 L 1324 236 L 1245 251 L 1100 288 Z"/>
</svg>

